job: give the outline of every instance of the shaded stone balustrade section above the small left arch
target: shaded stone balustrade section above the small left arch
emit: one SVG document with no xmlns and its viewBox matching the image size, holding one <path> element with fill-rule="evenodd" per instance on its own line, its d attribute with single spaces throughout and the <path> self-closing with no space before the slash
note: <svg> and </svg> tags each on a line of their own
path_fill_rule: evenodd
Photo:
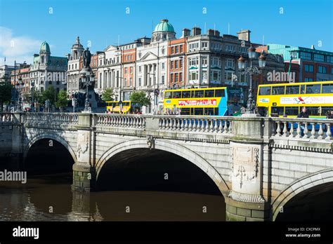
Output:
<svg viewBox="0 0 333 244">
<path fill-rule="evenodd" d="M 78 114 L 74 113 L 23 113 L 21 114 L 22 123 L 39 123 L 39 124 L 77 124 L 79 121 Z"/>
</svg>

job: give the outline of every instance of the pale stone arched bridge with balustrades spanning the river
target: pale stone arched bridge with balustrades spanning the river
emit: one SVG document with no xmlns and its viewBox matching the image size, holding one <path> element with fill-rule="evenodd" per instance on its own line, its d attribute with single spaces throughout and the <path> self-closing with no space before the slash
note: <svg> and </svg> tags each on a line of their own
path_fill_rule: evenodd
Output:
<svg viewBox="0 0 333 244">
<path fill-rule="evenodd" d="M 227 220 L 269 221 L 297 194 L 332 187 L 332 126 L 310 118 L 2 113 L 0 156 L 24 168 L 33 144 L 55 140 L 74 160 L 72 188 L 91 191 L 117 154 L 168 151 L 215 182 Z"/>
</svg>

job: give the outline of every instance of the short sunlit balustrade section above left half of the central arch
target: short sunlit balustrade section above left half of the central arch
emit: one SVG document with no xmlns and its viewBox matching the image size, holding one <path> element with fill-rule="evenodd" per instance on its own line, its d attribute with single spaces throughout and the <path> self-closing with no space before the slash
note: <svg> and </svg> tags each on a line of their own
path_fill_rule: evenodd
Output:
<svg viewBox="0 0 333 244">
<path fill-rule="evenodd" d="M 138 115 L 95 114 L 93 125 L 124 128 L 145 128 L 145 117 Z"/>
</svg>

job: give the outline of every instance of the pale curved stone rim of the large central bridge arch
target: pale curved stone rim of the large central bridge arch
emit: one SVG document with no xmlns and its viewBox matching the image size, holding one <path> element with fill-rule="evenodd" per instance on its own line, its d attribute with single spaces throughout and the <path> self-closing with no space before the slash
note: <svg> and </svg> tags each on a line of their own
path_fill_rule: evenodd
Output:
<svg viewBox="0 0 333 244">
<path fill-rule="evenodd" d="M 99 160 L 96 162 L 96 179 L 98 179 L 100 170 L 103 168 L 103 165 L 110 158 L 112 158 L 112 156 L 115 156 L 116 154 L 122 151 L 126 151 L 129 149 L 140 149 L 140 148 L 145 148 L 145 149 L 147 148 L 146 139 L 129 140 L 126 142 L 121 142 L 108 149 L 103 154 L 103 156 L 101 156 Z M 209 164 L 204 158 L 202 158 L 202 156 L 195 153 L 195 151 L 192 151 L 174 142 L 169 142 L 167 140 L 161 140 L 161 139 L 155 139 L 154 149 L 168 151 L 172 154 L 176 154 L 178 156 L 181 156 L 182 158 L 187 159 L 188 161 L 196 165 L 198 168 L 200 168 L 202 171 L 204 171 L 209 176 L 209 178 L 211 178 L 214 181 L 218 189 L 221 191 L 223 197 L 226 198 L 228 196 L 228 192 L 230 189 L 226 184 L 226 182 L 224 181 L 224 179 L 211 164 Z"/>
</svg>

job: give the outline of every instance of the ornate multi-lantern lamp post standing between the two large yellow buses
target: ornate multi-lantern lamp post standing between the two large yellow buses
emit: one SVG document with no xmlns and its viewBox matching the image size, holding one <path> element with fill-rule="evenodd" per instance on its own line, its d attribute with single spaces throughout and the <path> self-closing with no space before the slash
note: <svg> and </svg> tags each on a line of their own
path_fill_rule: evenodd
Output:
<svg viewBox="0 0 333 244">
<path fill-rule="evenodd" d="M 266 57 L 264 53 L 261 53 L 259 57 L 259 68 L 252 66 L 252 60 L 256 57 L 256 48 L 254 48 L 252 45 L 248 49 L 249 53 L 249 60 L 250 60 L 250 67 L 245 67 L 245 59 L 244 57 L 240 56 L 238 59 L 238 69 L 240 70 L 240 74 L 246 75 L 249 74 L 250 83 L 249 83 L 249 95 L 247 98 L 247 109 L 245 114 L 256 114 L 255 111 L 255 105 L 253 100 L 253 94 L 252 94 L 252 75 L 254 74 L 261 74 L 262 70 L 261 68 L 266 66 Z"/>
</svg>

